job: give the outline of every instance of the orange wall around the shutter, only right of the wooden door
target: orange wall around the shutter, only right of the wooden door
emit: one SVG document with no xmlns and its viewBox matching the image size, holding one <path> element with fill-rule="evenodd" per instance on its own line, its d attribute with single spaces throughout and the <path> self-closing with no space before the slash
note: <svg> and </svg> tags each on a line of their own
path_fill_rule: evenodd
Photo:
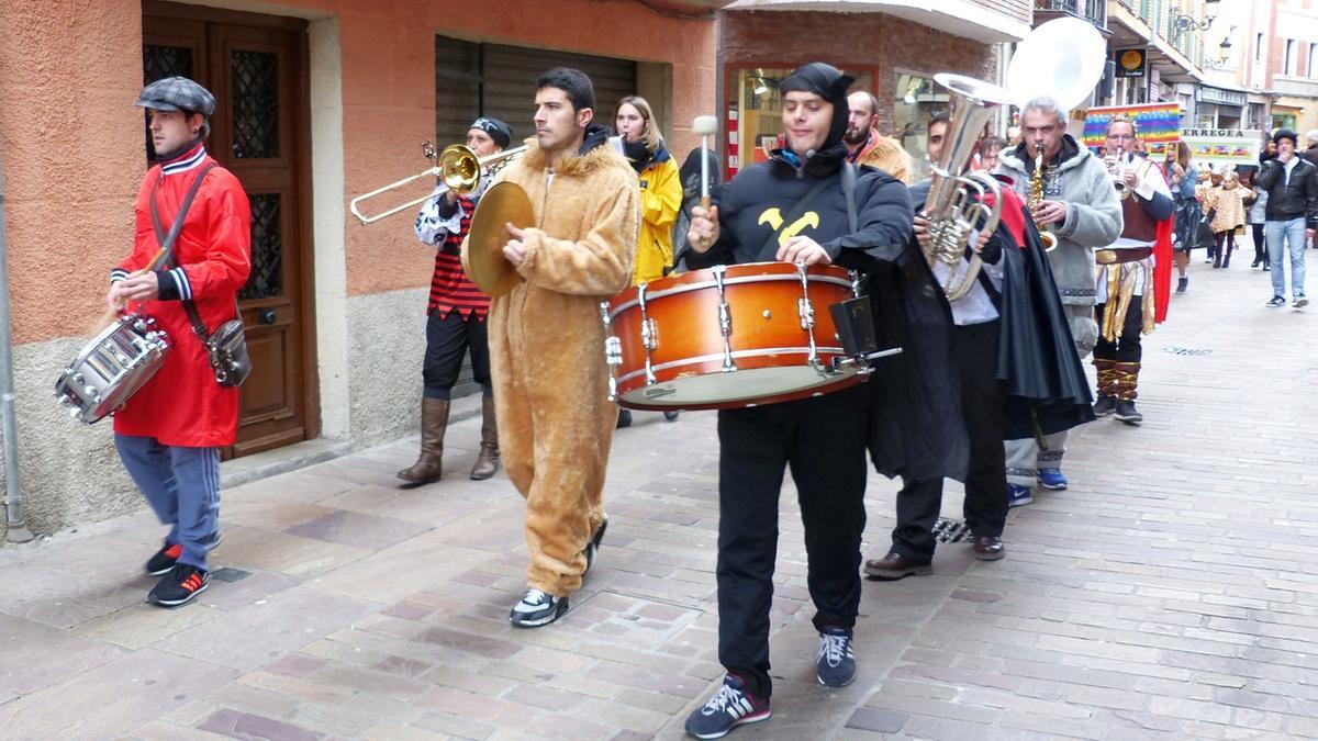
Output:
<svg viewBox="0 0 1318 741">
<path fill-rule="evenodd" d="M 380 3 L 378 12 L 343 12 L 344 179 L 349 194 L 424 169 L 418 145 L 434 138 L 434 36 L 552 47 L 673 66 L 673 138 L 677 157 L 696 146 L 691 120 L 712 113 L 716 25 L 660 16 L 638 3 L 496 0 Z M 573 22 L 564 22 L 572 18 Z M 527 87 L 534 80 L 527 80 Z M 530 123 L 515 121 L 526 131 Z M 612 102 L 600 102 L 612 109 Z M 608 115 L 608 113 L 605 113 Z M 348 293 L 428 285 L 432 257 L 393 216 L 372 227 L 348 224 Z"/>
</svg>

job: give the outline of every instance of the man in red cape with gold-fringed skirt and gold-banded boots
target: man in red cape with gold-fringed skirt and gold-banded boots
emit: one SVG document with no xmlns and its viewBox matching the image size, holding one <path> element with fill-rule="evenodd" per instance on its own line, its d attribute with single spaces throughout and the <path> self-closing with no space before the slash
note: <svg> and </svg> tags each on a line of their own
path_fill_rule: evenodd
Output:
<svg viewBox="0 0 1318 741">
<path fill-rule="evenodd" d="M 1135 154 L 1139 129 L 1119 115 L 1107 124 L 1114 177 L 1128 193 L 1122 200 L 1122 236 L 1095 253 L 1094 283 L 1098 340 L 1098 400 L 1094 414 L 1114 414 L 1127 425 L 1144 415 L 1135 409 L 1140 377 L 1140 335 L 1166 318 L 1172 281 L 1172 191 L 1157 166 Z M 1230 257 L 1230 253 L 1228 253 Z"/>
</svg>

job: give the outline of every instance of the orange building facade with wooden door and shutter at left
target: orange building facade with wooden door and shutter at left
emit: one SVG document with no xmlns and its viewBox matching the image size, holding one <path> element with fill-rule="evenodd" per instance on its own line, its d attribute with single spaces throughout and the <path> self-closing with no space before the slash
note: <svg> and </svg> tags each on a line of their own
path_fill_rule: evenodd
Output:
<svg viewBox="0 0 1318 741">
<path fill-rule="evenodd" d="M 530 136 L 535 75 L 559 63 L 597 76 L 606 123 L 617 96 L 647 96 L 673 152 L 685 152 L 697 144 L 692 119 L 716 100 L 721 4 L 0 5 L 0 218 L 18 430 L 17 461 L 4 465 L 17 463 L 29 526 L 140 506 L 111 423 L 70 421 L 51 388 L 104 311 L 108 270 L 133 239 L 148 166 L 133 107 L 144 80 L 185 74 L 211 87 L 219 107 L 207 146 L 252 202 L 241 311 L 256 372 L 225 456 L 308 440 L 362 447 L 415 432 L 432 251 L 413 236 L 410 214 L 362 227 L 347 202 L 426 169 L 420 142 L 459 141 L 478 113 Z"/>
</svg>

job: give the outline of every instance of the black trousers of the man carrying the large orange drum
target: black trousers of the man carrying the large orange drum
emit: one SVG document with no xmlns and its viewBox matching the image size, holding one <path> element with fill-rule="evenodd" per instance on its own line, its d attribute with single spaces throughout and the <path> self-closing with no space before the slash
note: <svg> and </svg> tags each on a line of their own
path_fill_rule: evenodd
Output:
<svg viewBox="0 0 1318 741">
<path fill-rule="evenodd" d="M 815 626 L 855 625 L 869 398 L 862 384 L 718 413 L 718 661 L 757 696 L 772 694 L 768 610 L 784 468 L 792 471 L 805 526 Z"/>
</svg>

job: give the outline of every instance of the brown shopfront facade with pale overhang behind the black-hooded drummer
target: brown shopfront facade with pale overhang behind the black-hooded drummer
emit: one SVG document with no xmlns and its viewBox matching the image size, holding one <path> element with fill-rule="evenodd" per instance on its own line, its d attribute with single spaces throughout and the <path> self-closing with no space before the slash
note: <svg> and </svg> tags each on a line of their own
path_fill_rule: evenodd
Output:
<svg viewBox="0 0 1318 741">
<path fill-rule="evenodd" d="M 1029 32 L 1031 13 L 1028 0 L 949 0 L 919 11 L 888 0 L 733 3 L 720 13 L 725 170 L 767 157 L 782 125 L 778 80 L 822 61 L 874 94 L 880 133 L 899 138 L 923 174 L 928 121 L 950 105 L 933 75 L 996 82 L 1000 45 Z"/>
</svg>

